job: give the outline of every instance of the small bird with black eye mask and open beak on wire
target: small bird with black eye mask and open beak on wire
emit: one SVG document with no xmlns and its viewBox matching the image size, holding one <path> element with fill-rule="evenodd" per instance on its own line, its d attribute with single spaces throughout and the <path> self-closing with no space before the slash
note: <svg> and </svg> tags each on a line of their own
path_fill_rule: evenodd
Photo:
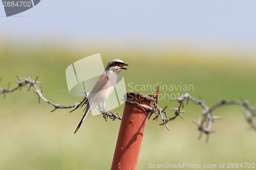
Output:
<svg viewBox="0 0 256 170">
<path fill-rule="evenodd" d="M 109 110 L 106 109 L 105 103 L 115 88 L 118 73 L 123 69 L 127 69 L 123 66 L 129 66 L 129 65 L 125 64 L 122 60 L 118 60 L 118 59 L 111 60 L 108 63 L 108 65 L 106 65 L 106 68 L 103 71 L 102 75 L 99 77 L 98 81 L 95 83 L 95 85 L 93 86 L 93 89 L 89 93 L 87 100 L 84 101 L 84 103 L 82 104 L 82 106 L 84 104 L 87 104 L 86 108 L 84 108 L 84 110 L 86 111 L 84 112 L 82 119 L 78 124 L 74 134 L 78 131 L 83 121 L 86 119 L 88 114 L 92 111 L 92 109 L 94 109 L 101 102 L 102 102 L 103 111 L 109 112 Z"/>
</svg>

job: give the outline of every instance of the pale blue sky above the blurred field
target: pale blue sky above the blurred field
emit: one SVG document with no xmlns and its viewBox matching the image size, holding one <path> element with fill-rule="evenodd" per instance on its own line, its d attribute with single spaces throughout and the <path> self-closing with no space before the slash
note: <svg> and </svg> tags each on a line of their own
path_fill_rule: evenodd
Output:
<svg viewBox="0 0 256 170">
<path fill-rule="evenodd" d="M 22 40 L 156 40 L 256 46 L 256 1 L 48 1 L 5 17 L 0 38 Z M 114 43 L 114 41 L 113 41 Z"/>
</svg>

